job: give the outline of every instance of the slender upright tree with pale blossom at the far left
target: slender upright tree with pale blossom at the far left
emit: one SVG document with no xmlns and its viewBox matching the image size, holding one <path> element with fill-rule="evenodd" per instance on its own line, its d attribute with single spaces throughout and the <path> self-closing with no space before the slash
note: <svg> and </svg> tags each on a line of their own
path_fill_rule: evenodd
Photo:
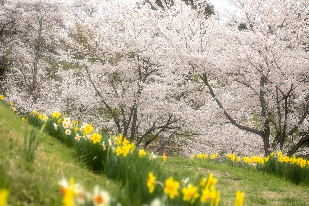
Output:
<svg viewBox="0 0 309 206">
<path fill-rule="evenodd" d="M 65 38 L 62 13 L 56 2 L 23 1 L 14 19 L 14 35 L 4 41 L 10 60 L 10 72 L 4 76 L 6 95 L 22 110 L 46 108 L 54 100 L 49 90 L 59 63 L 55 54 Z"/>
</svg>

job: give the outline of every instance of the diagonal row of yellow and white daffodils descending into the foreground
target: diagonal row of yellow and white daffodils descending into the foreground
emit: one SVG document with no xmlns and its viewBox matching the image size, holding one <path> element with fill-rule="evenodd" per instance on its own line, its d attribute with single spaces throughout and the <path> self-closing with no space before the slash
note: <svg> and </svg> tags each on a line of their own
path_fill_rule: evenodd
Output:
<svg viewBox="0 0 309 206">
<path fill-rule="evenodd" d="M 197 182 L 196 180 L 189 182 L 187 178 L 179 182 L 177 179 L 174 179 L 174 177 L 166 177 L 166 174 L 162 174 L 159 169 L 159 165 L 155 163 L 160 161 L 165 162 L 167 159 L 165 153 L 158 158 L 154 153 L 147 153 L 144 149 L 138 149 L 133 142 L 130 143 L 129 140 L 122 137 L 121 134 L 109 138 L 105 137 L 101 135 L 98 130 L 95 130 L 91 124 L 80 124 L 78 121 L 71 120 L 69 117 L 61 116 L 59 111 L 55 111 L 51 116 L 47 116 L 34 110 L 28 114 L 27 117 L 23 117 L 22 120 L 35 126 L 43 127 L 45 131 L 57 137 L 67 145 L 76 147 L 79 155 L 83 157 L 83 159 L 87 159 L 87 156 L 90 156 L 89 162 L 96 162 L 93 166 L 96 171 L 98 168 L 101 168 L 102 171 L 109 174 L 108 168 L 118 164 L 116 168 L 119 170 L 117 171 L 119 175 L 115 177 L 115 179 L 125 179 L 125 176 L 129 176 L 124 182 L 127 184 L 138 183 L 138 187 L 145 188 L 148 192 L 148 195 L 146 194 L 145 196 L 150 197 L 150 199 L 134 193 L 134 195 L 139 196 L 143 201 L 138 204 L 218 205 L 219 203 L 220 191 L 216 191 L 215 189 L 217 179 L 213 177 L 213 174 L 210 174 L 208 178 L 199 180 L 197 186 L 193 184 L 193 182 Z M 215 154 L 214 157 L 217 158 L 218 154 Z M 149 171 L 147 172 L 148 175 L 146 173 L 146 175 L 143 175 L 145 177 L 142 177 L 142 181 L 140 181 L 140 179 L 134 180 L 134 176 L 138 175 L 134 175 L 129 171 L 127 171 L 126 174 L 121 174 L 120 172 L 125 170 L 123 168 L 131 167 L 130 165 L 128 166 L 128 163 L 136 164 L 135 166 L 131 165 L 132 168 L 145 165 L 147 168 L 146 170 L 156 170 L 157 175 L 154 174 L 155 172 Z M 121 166 L 123 167 L 121 168 Z M 134 173 L 139 172 L 141 171 L 134 171 Z M 60 185 L 63 195 L 63 204 L 65 206 L 121 205 L 121 203 L 117 201 L 118 197 L 112 198 L 108 191 L 95 187 L 93 192 L 87 192 L 83 187 L 75 184 L 72 178 L 69 181 L 63 179 Z M 137 192 L 139 190 L 133 189 L 133 191 L 130 192 L 134 191 Z M 130 196 L 134 195 L 132 193 Z M 242 205 L 243 200 L 244 193 L 237 191 L 235 205 Z M 122 204 L 136 205 L 134 201 L 127 201 L 127 203 L 122 201 Z"/>
</svg>

